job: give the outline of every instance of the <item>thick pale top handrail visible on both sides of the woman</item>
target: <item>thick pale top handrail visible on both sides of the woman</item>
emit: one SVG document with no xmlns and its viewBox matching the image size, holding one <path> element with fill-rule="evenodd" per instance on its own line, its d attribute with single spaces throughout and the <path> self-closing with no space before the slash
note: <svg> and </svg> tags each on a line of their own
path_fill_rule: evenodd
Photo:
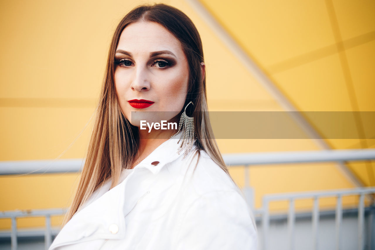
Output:
<svg viewBox="0 0 375 250">
<path fill-rule="evenodd" d="M 231 167 L 243 165 L 314 163 L 327 161 L 375 160 L 375 149 L 335 149 L 321 151 L 263 152 L 224 154 L 225 164 Z M 80 172 L 84 159 L 2 161 L 0 175 L 30 173 Z"/>
</svg>

